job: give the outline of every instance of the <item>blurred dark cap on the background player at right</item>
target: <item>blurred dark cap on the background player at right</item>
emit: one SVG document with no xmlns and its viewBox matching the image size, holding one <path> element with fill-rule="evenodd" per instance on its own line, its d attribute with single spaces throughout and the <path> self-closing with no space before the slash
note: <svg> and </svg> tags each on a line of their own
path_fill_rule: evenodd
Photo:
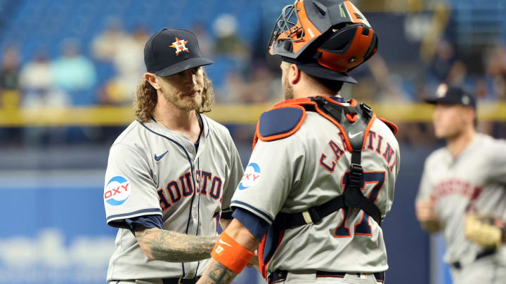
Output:
<svg viewBox="0 0 506 284">
<path fill-rule="evenodd" d="M 436 97 L 425 100 L 429 104 L 461 104 L 476 109 L 476 98 L 463 88 L 441 84 L 436 90 Z"/>
</svg>

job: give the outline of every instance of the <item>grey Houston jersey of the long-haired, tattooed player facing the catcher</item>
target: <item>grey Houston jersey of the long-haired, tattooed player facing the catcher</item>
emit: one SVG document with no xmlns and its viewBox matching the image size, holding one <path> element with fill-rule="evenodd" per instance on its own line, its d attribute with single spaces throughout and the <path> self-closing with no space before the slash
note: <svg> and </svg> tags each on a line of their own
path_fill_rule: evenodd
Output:
<svg viewBox="0 0 506 284">
<path fill-rule="evenodd" d="M 230 210 L 243 171 L 228 130 L 201 117 L 197 152 L 188 137 L 155 121 L 134 121 L 112 145 L 103 198 L 108 224 L 120 229 L 107 280 L 193 278 L 205 269 L 207 260 L 148 261 L 134 234 L 124 229 L 126 218 L 157 214 L 165 230 L 216 235 L 220 212 Z"/>
</svg>

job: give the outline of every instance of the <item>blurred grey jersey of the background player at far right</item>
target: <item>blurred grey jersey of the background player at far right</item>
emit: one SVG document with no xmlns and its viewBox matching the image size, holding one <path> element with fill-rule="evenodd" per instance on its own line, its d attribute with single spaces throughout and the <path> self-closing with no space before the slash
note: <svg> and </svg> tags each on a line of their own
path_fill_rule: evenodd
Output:
<svg viewBox="0 0 506 284">
<path fill-rule="evenodd" d="M 506 141 L 477 134 L 454 158 L 448 148 L 434 151 L 425 161 L 417 201 L 431 198 L 446 239 L 446 262 L 473 262 L 484 250 L 467 241 L 467 211 L 506 220 Z"/>
</svg>

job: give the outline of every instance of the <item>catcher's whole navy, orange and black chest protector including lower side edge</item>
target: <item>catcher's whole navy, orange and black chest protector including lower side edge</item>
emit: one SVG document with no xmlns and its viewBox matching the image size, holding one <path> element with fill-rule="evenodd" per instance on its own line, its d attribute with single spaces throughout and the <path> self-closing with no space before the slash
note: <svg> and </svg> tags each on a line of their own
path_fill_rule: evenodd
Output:
<svg viewBox="0 0 506 284">
<path fill-rule="evenodd" d="M 350 175 L 347 177 L 346 186 L 340 196 L 330 200 L 325 199 L 326 202 L 323 204 L 311 203 L 311 205 L 307 205 L 308 208 L 305 210 L 301 209 L 301 212 L 295 211 L 288 213 L 279 211 L 275 213 L 275 218 L 259 245 L 259 264 L 261 273 L 264 277 L 267 276 L 267 266 L 271 262 L 277 248 L 283 242 L 286 229 L 296 228 L 297 226 L 303 226 L 305 224 L 322 224 L 325 222 L 323 218 L 326 216 L 333 212 L 337 212 L 339 209 L 350 207 L 360 208 L 363 212 L 368 214 L 371 219 L 374 219 L 377 224 L 381 222 L 380 210 L 372 201 L 365 198 L 361 192 L 361 182 L 364 180 L 362 175 L 361 152 L 362 149 L 364 149 L 365 137 L 369 136 L 372 125 L 376 124 L 376 115 L 365 104 L 359 105 L 356 100 L 351 100 L 349 104 L 346 105 L 339 104 L 335 97 L 306 97 L 280 102 L 275 105 L 273 109 L 261 115 L 257 123 L 254 146 L 258 140 L 264 142 L 283 140 L 283 138 L 297 133 L 299 129 L 305 131 L 306 128 L 311 128 L 312 126 L 310 124 L 306 124 L 304 128 L 301 128 L 308 111 L 316 112 L 318 115 L 330 121 L 335 127 L 339 128 L 339 136 L 342 138 L 344 146 L 343 149 L 351 153 Z M 318 123 L 313 119 L 311 119 L 311 121 Z M 393 123 L 389 123 L 388 121 L 384 121 L 384 123 L 390 127 L 393 133 L 396 132 L 396 126 L 394 126 Z M 326 128 L 325 130 L 319 128 L 323 130 L 318 132 L 323 134 L 320 134 L 322 137 L 301 137 L 301 139 L 326 139 L 325 133 L 333 133 L 332 135 L 337 133 L 336 129 L 331 125 L 326 127 L 328 130 Z M 306 133 L 311 133 L 311 131 Z M 284 145 L 285 147 L 290 147 L 286 144 Z M 264 147 L 266 145 L 260 146 Z M 310 149 L 310 151 L 311 150 L 312 149 Z M 306 152 L 306 154 L 309 155 L 310 153 Z M 339 174 L 344 168 L 341 167 L 340 169 Z M 338 187 L 338 184 L 335 184 L 335 186 Z M 327 187 L 332 187 L 332 183 L 329 183 Z"/>
</svg>

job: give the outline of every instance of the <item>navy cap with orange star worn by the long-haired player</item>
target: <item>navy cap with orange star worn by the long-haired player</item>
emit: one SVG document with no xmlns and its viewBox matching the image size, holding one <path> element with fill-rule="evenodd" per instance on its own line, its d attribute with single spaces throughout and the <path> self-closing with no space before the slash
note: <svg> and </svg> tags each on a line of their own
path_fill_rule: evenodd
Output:
<svg viewBox="0 0 506 284">
<path fill-rule="evenodd" d="M 145 44 L 144 63 L 148 72 L 164 77 L 213 61 L 202 57 L 195 34 L 164 27 Z"/>
</svg>

